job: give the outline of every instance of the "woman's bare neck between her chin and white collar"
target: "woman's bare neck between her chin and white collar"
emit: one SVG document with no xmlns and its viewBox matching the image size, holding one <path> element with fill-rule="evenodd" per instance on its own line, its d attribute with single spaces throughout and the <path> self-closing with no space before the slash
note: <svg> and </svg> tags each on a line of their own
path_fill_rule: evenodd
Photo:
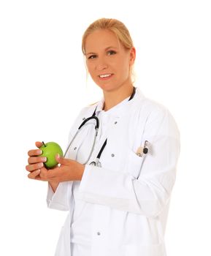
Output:
<svg viewBox="0 0 211 256">
<path fill-rule="evenodd" d="M 129 86 L 122 86 L 115 91 L 104 91 L 104 111 L 110 110 L 115 105 L 118 105 L 124 99 L 131 96 L 133 93 L 134 86 L 131 84 Z"/>
</svg>

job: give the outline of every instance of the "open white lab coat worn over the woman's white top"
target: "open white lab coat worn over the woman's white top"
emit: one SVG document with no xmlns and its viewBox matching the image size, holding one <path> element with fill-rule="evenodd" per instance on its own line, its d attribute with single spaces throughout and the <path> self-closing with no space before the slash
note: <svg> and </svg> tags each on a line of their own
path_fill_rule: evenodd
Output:
<svg viewBox="0 0 211 256">
<path fill-rule="evenodd" d="M 81 110 L 69 140 L 98 104 Z M 76 145 L 86 137 L 79 135 Z M 166 218 L 180 153 L 177 124 L 169 110 L 144 97 L 137 88 L 134 99 L 112 113 L 109 129 L 99 144 L 106 138 L 102 167 L 87 164 L 82 181 L 77 181 L 80 199 L 94 205 L 91 256 L 165 256 Z M 139 157 L 137 148 L 145 140 L 150 143 L 149 152 Z M 95 160 L 99 148 L 89 162 Z M 69 157 L 76 154 L 70 149 Z M 55 256 L 71 256 L 72 184 L 60 183 L 55 194 L 48 188 L 48 207 L 69 211 Z M 99 227 L 102 236 L 97 235 Z"/>
</svg>

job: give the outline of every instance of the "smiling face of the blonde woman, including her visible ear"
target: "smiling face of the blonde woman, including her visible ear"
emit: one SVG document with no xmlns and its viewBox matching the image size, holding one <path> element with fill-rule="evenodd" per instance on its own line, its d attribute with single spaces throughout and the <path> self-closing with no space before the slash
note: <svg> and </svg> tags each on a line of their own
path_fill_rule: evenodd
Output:
<svg viewBox="0 0 211 256">
<path fill-rule="evenodd" d="M 112 31 L 96 30 L 85 41 L 86 64 L 93 81 L 104 91 L 131 86 L 130 66 L 135 48 L 126 50 Z M 105 76 L 106 75 L 106 76 Z"/>
</svg>

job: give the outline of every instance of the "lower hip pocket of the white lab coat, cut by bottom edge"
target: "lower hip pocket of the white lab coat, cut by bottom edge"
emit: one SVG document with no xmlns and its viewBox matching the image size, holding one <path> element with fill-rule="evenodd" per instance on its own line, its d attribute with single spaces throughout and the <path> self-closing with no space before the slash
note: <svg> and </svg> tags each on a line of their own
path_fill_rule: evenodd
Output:
<svg viewBox="0 0 211 256">
<path fill-rule="evenodd" d="M 126 245 L 126 256 L 166 256 L 164 244 Z"/>
</svg>

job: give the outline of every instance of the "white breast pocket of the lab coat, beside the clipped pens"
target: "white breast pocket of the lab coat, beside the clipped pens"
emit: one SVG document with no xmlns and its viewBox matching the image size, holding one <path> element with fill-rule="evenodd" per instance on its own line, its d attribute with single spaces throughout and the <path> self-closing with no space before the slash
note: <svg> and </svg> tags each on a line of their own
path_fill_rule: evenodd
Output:
<svg viewBox="0 0 211 256">
<path fill-rule="evenodd" d="M 131 176 L 134 178 L 139 178 L 143 161 L 144 156 L 139 157 L 134 151 L 128 151 L 128 157 L 126 159 L 126 172 L 131 174 Z"/>
</svg>

